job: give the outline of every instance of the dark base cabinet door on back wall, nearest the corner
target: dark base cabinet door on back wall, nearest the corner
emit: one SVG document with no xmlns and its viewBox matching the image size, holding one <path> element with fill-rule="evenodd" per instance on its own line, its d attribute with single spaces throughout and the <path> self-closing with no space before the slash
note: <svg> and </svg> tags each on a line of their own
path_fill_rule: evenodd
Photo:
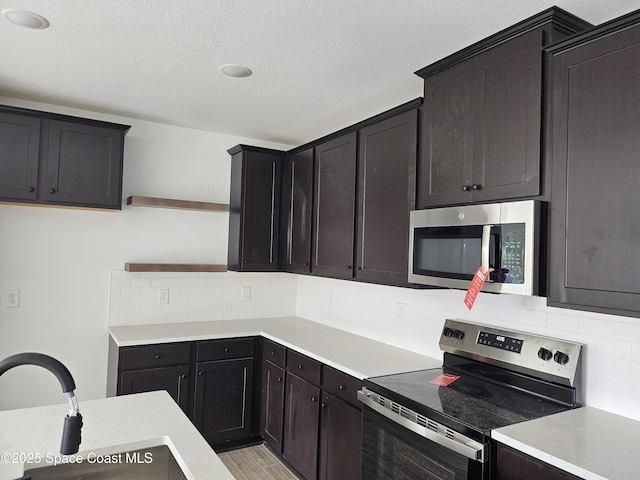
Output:
<svg viewBox="0 0 640 480">
<path fill-rule="evenodd" d="M 251 434 L 253 358 L 196 364 L 194 424 L 211 444 Z"/>
</svg>

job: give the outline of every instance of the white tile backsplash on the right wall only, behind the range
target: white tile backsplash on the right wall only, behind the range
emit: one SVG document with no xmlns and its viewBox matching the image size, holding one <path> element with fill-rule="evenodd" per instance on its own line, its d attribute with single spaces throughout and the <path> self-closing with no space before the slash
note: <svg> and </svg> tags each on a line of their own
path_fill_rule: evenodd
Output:
<svg viewBox="0 0 640 480">
<path fill-rule="evenodd" d="M 297 316 L 441 358 L 446 318 L 535 332 L 585 344 L 586 405 L 640 420 L 640 319 L 546 306 L 546 299 L 461 290 L 412 290 L 298 276 Z M 398 312 L 404 310 L 404 320 Z"/>
</svg>

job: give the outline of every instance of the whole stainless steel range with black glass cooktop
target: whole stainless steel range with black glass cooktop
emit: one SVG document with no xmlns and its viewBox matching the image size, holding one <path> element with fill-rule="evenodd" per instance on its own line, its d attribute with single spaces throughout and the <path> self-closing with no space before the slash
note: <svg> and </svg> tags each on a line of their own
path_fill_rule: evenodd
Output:
<svg viewBox="0 0 640 480">
<path fill-rule="evenodd" d="M 441 368 L 364 380 L 362 480 L 488 480 L 492 430 L 580 404 L 578 343 L 446 320 L 440 348 Z"/>
</svg>

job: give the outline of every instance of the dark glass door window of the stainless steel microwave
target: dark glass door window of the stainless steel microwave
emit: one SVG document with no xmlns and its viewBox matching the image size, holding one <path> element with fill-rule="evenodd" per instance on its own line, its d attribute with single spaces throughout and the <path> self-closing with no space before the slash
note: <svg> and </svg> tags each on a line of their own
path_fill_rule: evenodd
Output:
<svg viewBox="0 0 640 480">
<path fill-rule="evenodd" d="M 413 273 L 471 280 L 482 265 L 482 226 L 416 228 L 413 232 Z M 490 262 L 495 260 L 491 236 Z"/>
</svg>

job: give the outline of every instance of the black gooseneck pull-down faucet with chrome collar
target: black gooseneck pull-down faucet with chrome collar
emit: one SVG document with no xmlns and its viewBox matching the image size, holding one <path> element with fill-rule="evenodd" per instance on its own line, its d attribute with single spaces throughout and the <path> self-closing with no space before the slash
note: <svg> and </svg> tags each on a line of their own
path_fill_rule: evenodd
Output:
<svg viewBox="0 0 640 480">
<path fill-rule="evenodd" d="M 18 353 L 17 355 L 12 355 L 0 361 L 0 375 L 18 365 L 38 365 L 46 368 L 56 376 L 60 385 L 62 385 L 62 392 L 65 393 L 69 399 L 69 413 L 64 419 L 60 453 L 62 455 L 77 453 L 81 442 L 80 430 L 82 429 L 82 415 L 80 415 L 78 401 L 73 392 L 76 384 L 67 367 L 49 355 L 42 353 Z"/>
</svg>

